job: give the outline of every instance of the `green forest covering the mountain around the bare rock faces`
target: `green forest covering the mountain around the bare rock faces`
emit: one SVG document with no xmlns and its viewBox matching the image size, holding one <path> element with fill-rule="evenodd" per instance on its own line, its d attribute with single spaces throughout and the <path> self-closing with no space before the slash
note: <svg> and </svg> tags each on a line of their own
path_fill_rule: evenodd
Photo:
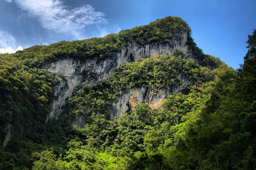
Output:
<svg viewBox="0 0 256 170">
<path fill-rule="evenodd" d="M 184 32 L 194 59 L 176 49 L 120 65 L 103 81 L 78 85 L 59 118 L 47 119 L 64 77 L 48 72 L 46 64 L 111 58 L 131 42 L 172 45 Z M 0 169 L 255 170 L 256 30 L 247 44 L 244 63 L 234 70 L 204 54 L 185 21 L 165 17 L 103 38 L 0 54 Z M 141 87 L 158 93 L 181 85 L 180 75 L 190 84 L 161 107 L 142 103 L 110 116 L 121 93 Z M 73 126 L 81 116 L 85 126 Z"/>
</svg>

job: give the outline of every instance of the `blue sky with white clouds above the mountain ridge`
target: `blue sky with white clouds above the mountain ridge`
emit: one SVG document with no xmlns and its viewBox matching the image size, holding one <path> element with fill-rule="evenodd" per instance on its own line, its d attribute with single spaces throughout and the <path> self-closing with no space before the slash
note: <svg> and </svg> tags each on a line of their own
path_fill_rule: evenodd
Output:
<svg viewBox="0 0 256 170">
<path fill-rule="evenodd" d="M 118 33 L 181 17 L 204 53 L 239 68 L 256 0 L 0 0 L 0 53 Z"/>
</svg>

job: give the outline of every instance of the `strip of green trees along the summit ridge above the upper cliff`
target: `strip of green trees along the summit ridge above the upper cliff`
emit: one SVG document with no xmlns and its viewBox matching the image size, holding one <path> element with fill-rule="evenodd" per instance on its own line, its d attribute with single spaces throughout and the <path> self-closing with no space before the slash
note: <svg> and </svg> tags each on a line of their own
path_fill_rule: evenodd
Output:
<svg viewBox="0 0 256 170">
<path fill-rule="evenodd" d="M 199 63 L 209 65 L 212 56 L 202 53 L 191 38 L 191 29 L 180 17 L 165 17 L 157 19 L 145 26 L 137 26 L 128 30 L 121 30 L 119 34 L 109 34 L 102 38 L 90 38 L 73 42 L 56 42 L 46 45 L 36 45 L 23 51 L 17 51 L 12 58 L 22 58 L 28 67 L 42 67 L 46 63 L 62 58 L 86 60 L 88 58 L 111 58 L 121 51 L 122 47 L 136 42 L 137 45 L 169 43 L 181 39 L 183 35 L 188 38 L 189 48 L 196 53 Z M 203 61 L 204 60 L 204 61 Z M 214 60 L 214 59 L 213 59 Z M 202 61 L 202 62 L 201 62 Z"/>
</svg>

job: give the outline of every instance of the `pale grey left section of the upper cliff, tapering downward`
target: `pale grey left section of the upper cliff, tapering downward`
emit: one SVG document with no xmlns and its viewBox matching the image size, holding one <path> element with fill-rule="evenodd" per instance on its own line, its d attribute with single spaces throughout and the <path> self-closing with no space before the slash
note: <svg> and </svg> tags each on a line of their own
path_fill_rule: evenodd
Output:
<svg viewBox="0 0 256 170">
<path fill-rule="evenodd" d="M 96 60 L 92 59 L 80 61 L 66 58 L 49 64 L 47 70 L 64 79 L 59 85 L 55 86 L 55 100 L 49 118 L 58 118 L 64 107 L 65 99 L 72 95 L 77 85 L 97 83 L 109 77 L 116 66 L 117 64 L 111 59 L 97 63 Z"/>
</svg>

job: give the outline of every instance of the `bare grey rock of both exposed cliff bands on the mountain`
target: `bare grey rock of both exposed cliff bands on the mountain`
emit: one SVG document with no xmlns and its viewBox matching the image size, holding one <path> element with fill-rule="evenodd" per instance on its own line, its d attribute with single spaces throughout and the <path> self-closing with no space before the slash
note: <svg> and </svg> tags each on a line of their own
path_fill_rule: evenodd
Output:
<svg viewBox="0 0 256 170">
<path fill-rule="evenodd" d="M 65 100 L 70 97 L 79 84 L 95 84 L 104 78 L 111 76 L 121 64 L 139 61 L 156 55 L 172 55 L 173 50 L 181 49 L 187 55 L 185 59 L 193 59 L 192 52 L 188 50 L 187 33 L 184 33 L 181 39 L 171 40 L 166 44 L 146 44 L 137 45 L 136 42 L 129 43 L 122 47 L 122 50 L 112 58 L 108 59 L 87 59 L 86 61 L 75 60 L 71 58 L 61 59 L 50 63 L 46 69 L 61 77 L 63 81 L 55 86 L 55 100 L 52 104 L 52 111 L 49 118 L 58 118 L 64 107 Z M 189 83 L 183 81 L 185 88 Z M 119 117 L 128 109 L 134 109 L 138 104 L 146 102 L 150 107 L 159 108 L 162 100 L 172 92 L 178 92 L 180 89 L 162 89 L 155 92 L 154 89 L 145 87 L 132 89 L 127 93 L 121 94 L 110 108 L 110 114 L 113 117 Z M 79 121 L 81 124 L 81 121 Z"/>
</svg>

